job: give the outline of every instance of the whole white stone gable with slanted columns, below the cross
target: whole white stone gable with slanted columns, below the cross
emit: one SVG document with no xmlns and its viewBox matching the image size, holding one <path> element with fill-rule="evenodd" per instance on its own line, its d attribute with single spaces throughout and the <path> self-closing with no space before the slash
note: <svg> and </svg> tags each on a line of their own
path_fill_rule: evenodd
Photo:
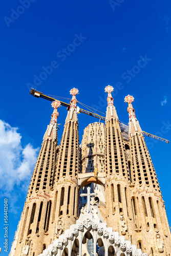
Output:
<svg viewBox="0 0 171 256">
<path fill-rule="evenodd" d="M 71 225 L 70 229 L 61 234 L 58 239 L 54 240 L 53 244 L 49 245 L 39 256 L 65 255 L 63 252 L 67 251 L 68 256 L 81 256 L 82 244 L 86 234 L 91 234 L 94 241 L 94 255 L 96 255 L 96 243 L 103 244 L 105 256 L 109 255 L 108 251 L 111 246 L 117 256 L 123 255 L 137 255 L 147 256 L 142 253 L 141 249 L 137 249 L 136 245 L 132 245 L 130 241 L 119 236 L 117 231 L 113 231 L 105 222 L 101 222 L 99 218 L 94 218 L 92 213 L 84 214 L 76 221 L 76 224 Z M 79 242 L 79 253 L 73 250 L 73 245 Z"/>
</svg>

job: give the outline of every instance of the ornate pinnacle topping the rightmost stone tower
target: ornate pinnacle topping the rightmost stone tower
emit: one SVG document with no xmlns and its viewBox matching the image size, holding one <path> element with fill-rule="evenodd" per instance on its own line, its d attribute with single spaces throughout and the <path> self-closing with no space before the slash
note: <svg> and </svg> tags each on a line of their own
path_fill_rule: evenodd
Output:
<svg viewBox="0 0 171 256">
<path fill-rule="evenodd" d="M 129 137 L 135 136 L 136 134 L 140 135 L 142 133 L 142 130 L 136 118 L 135 110 L 132 105 L 132 102 L 134 102 L 134 97 L 131 95 L 127 95 L 124 98 L 124 102 L 129 103 L 129 106 L 127 108 L 127 112 L 129 113 Z"/>
</svg>

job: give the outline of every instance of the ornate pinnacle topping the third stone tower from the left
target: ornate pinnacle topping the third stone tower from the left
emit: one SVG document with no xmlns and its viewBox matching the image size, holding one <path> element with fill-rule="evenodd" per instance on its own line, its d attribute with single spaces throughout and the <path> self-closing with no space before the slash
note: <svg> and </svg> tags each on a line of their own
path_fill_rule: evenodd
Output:
<svg viewBox="0 0 171 256">
<path fill-rule="evenodd" d="M 114 88 L 112 86 L 106 86 L 105 89 L 104 89 L 104 92 L 108 93 L 108 98 L 107 98 L 108 106 L 107 106 L 107 110 L 106 110 L 105 123 L 110 121 L 112 118 L 114 120 L 115 120 L 115 118 L 117 120 L 119 120 L 118 116 L 117 116 L 117 113 L 116 113 L 114 103 L 113 103 L 114 99 L 113 99 L 112 94 L 111 94 L 113 91 L 114 91 Z"/>
</svg>

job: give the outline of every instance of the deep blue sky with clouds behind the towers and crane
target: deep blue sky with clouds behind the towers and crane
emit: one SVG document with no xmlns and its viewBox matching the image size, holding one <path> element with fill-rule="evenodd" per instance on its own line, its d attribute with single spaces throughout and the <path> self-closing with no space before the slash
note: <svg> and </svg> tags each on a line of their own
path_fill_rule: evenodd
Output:
<svg viewBox="0 0 171 256">
<path fill-rule="evenodd" d="M 171 3 L 8 0 L 1 3 L 0 17 L 0 203 L 2 221 L 4 198 L 9 200 L 9 252 L 52 113 L 50 102 L 29 95 L 31 86 L 65 102 L 70 89 L 78 88 L 78 101 L 105 113 L 104 88 L 110 84 L 121 121 L 129 120 L 124 97 L 133 95 L 142 130 L 171 140 Z M 66 115 L 61 107 L 59 141 Z M 79 115 L 80 141 L 94 121 Z M 146 143 L 171 225 L 171 143 Z"/>
</svg>

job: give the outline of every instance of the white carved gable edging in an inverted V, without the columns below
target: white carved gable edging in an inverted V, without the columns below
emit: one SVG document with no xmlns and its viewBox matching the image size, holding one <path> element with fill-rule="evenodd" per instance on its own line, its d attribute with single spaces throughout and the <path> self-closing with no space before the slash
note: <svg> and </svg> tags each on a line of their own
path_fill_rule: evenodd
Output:
<svg viewBox="0 0 171 256">
<path fill-rule="evenodd" d="M 83 218 L 85 217 L 88 218 L 77 220 L 76 224 L 70 226 L 70 229 L 66 230 L 65 233 L 60 234 L 59 239 L 56 239 L 53 244 L 49 245 L 48 249 L 45 249 L 43 253 L 39 254 L 39 256 L 61 256 L 63 250 L 65 250 L 66 247 L 70 248 L 71 244 L 75 243 L 75 239 L 78 239 L 79 235 L 79 242 L 82 243 L 84 237 L 83 234 L 87 232 L 86 229 L 89 230 L 92 236 L 97 237 L 100 235 L 107 251 L 113 244 L 113 247 L 116 248 L 118 255 L 124 253 L 125 256 L 147 256 L 146 254 L 142 254 L 141 249 L 137 250 L 136 245 L 132 245 L 130 241 L 125 240 L 122 236 L 119 236 L 119 232 L 114 232 L 113 229 L 108 227 L 105 222 L 100 222 L 100 219 L 97 219 L 96 222 L 94 222 L 92 213 L 88 214 L 88 216 L 84 216 Z M 158 241 L 160 242 L 159 244 L 161 244 L 161 240 Z M 49 252 L 50 254 L 48 254 Z M 71 255 L 72 254 L 70 254 L 70 256 Z"/>
</svg>

